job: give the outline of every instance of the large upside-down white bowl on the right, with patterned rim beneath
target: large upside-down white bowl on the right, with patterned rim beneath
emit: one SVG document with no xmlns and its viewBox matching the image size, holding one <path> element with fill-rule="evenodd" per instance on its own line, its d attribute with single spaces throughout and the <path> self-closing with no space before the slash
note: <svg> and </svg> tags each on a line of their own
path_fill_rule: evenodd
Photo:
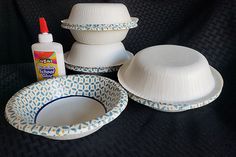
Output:
<svg viewBox="0 0 236 157">
<path fill-rule="evenodd" d="M 219 96 L 223 87 L 220 73 L 202 54 L 176 45 L 138 52 L 120 68 L 118 79 L 134 100 L 169 112 L 206 105 Z"/>
</svg>

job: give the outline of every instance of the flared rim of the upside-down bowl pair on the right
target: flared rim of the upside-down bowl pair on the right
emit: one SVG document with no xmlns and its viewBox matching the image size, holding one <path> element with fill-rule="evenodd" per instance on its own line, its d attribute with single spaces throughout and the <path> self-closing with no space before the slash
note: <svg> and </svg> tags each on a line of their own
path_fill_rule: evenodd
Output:
<svg viewBox="0 0 236 157">
<path fill-rule="evenodd" d="M 120 69 L 117 73 L 119 83 L 122 85 L 123 88 L 126 89 L 126 91 L 128 91 L 130 98 L 133 98 L 133 99 L 137 100 L 138 102 L 141 102 L 142 104 L 147 105 L 152 108 L 155 108 L 157 110 L 162 110 L 162 111 L 167 111 L 167 112 L 176 112 L 176 111 L 171 111 L 172 109 L 161 109 L 160 107 L 158 107 L 159 105 L 162 105 L 162 106 L 168 106 L 168 105 L 169 106 L 182 106 L 182 107 L 183 106 L 190 106 L 192 108 L 196 105 L 197 106 L 206 105 L 206 104 L 214 101 L 220 95 L 222 88 L 223 88 L 223 84 L 224 84 L 223 78 L 220 75 L 220 73 L 215 68 L 213 68 L 209 65 L 212 76 L 215 81 L 215 87 L 207 95 L 205 95 L 199 99 L 194 99 L 194 100 L 189 100 L 189 101 L 179 101 L 179 102 L 153 101 L 153 100 L 145 98 L 140 93 L 137 93 L 134 89 L 131 89 L 127 83 L 125 83 L 125 81 L 123 79 L 123 73 L 128 68 L 130 63 L 131 62 L 126 63 L 120 67 Z M 146 101 L 146 102 L 144 102 L 144 101 Z M 152 106 L 150 105 L 150 103 L 152 103 Z M 156 107 L 153 107 L 153 104 L 154 105 L 156 104 Z"/>
</svg>

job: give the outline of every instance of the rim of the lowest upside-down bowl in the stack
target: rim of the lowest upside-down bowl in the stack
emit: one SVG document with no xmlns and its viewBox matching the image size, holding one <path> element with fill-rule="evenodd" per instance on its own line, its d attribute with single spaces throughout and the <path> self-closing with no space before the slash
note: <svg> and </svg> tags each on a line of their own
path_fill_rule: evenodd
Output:
<svg viewBox="0 0 236 157">
<path fill-rule="evenodd" d="M 130 59 L 133 57 L 133 54 L 129 51 L 126 51 L 129 54 Z M 67 61 L 67 56 L 69 52 L 65 53 L 65 66 L 67 69 L 76 71 L 76 72 L 83 72 L 83 73 L 109 73 L 109 72 L 115 72 L 118 71 L 120 65 L 111 65 L 107 67 L 86 67 L 86 66 L 80 66 L 80 65 L 74 65 Z M 127 60 L 128 61 L 128 60 Z M 125 63 L 125 62 L 124 62 Z"/>
</svg>

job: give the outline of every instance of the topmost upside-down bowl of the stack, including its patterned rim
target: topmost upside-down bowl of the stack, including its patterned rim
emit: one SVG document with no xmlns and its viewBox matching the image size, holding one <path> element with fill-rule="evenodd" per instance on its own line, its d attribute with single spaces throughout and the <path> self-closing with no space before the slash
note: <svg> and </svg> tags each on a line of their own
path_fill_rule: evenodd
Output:
<svg viewBox="0 0 236 157">
<path fill-rule="evenodd" d="M 130 17 L 121 3 L 78 3 L 61 26 L 78 31 L 111 31 L 135 28 L 137 22 L 138 18 Z"/>
</svg>

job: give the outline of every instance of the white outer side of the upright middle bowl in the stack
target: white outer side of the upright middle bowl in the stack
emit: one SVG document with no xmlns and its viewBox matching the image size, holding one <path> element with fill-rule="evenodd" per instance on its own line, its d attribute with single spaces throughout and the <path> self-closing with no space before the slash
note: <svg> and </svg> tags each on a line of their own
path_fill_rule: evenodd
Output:
<svg viewBox="0 0 236 157">
<path fill-rule="evenodd" d="M 76 41 L 84 44 L 110 44 L 125 39 L 128 29 L 111 31 L 79 31 L 70 29 Z"/>
</svg>

